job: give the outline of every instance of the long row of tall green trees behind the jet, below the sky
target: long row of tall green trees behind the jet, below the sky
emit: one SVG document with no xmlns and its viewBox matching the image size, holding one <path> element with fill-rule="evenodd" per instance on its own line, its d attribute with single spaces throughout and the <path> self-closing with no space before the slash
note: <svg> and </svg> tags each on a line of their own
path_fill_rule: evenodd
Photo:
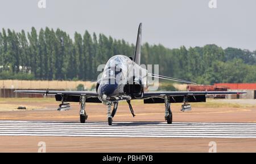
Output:
<svg viewBox="0 0 256 164">
<path fill-rule="evenodd" d="M 135 40 L 135 39 L 134 39 Z M 96 80 L 99 64 L 117 54 L 133 56 L 134 45 L 85 31 L 71 38 L 57 29 L 0 32 L 0 79 Z M 159 64 L 162 75 L 200 84 L 255 83 L 255 51 L 216 45 L 168 49 L 142 46 L 142 63 Z"/>
</svg>

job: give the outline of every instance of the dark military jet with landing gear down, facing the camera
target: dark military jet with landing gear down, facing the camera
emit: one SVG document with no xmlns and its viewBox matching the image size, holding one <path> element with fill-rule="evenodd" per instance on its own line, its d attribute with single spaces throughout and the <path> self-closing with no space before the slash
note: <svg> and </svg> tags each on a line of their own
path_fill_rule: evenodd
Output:
<svg viewBox="0 0 256 164">
<path fill-rule="evenodd" d="M 191 81 L 151 74 L 141 67 L 141 37 L 142 23 L 139 24 L 137 43 L 134 56 L 115 55 L 106 63 L 102 77 L 97 81 L 96 91 L 68 91 L 68 90 L 15 90 L 16 93 L 53 94 L 56 101 L 61 101 L 58 110 L 69 109 L 68 102 L 80 102 L 80 122 L 85 123 L 88 115 L 85 111 L 86 103 L 104 103 L 108 110 L 108 124 L 111 126 L 118 102 L 127 101 L 131 114 L 135 116 L 132 100 L 143 100 L 144 103 L 164 103 L 164 118 L 168 124 L 172 123 L 171 103 L 183 103 L 181 111 L 191 110 L 189 102 L 206 102 L 206 95 L 241 94 L 245 92 L 189 92 L 189 91 L 148 91 L 148 79 L 154 77 L 193 84 Z M 113 106 L 113 109 L 112 109 Z"/>
</svg>

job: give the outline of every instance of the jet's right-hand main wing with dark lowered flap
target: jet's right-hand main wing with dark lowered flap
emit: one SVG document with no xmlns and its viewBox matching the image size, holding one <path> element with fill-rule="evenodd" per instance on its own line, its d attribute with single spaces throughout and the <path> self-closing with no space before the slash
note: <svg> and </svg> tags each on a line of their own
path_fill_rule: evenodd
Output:
<svg viewBox="0 0 256 164">
<path fill-rule="evenodd" d="M 229 91 L 171 91 L 171 92 L 145 92 L 144 103 L 164 103 L 164 97 L 167 96 L 170 102 L 205 102 L 206 95 L 223 95 L 223 94 L 242 94 L 246 92 L 229 92 Z"/>
</svg>

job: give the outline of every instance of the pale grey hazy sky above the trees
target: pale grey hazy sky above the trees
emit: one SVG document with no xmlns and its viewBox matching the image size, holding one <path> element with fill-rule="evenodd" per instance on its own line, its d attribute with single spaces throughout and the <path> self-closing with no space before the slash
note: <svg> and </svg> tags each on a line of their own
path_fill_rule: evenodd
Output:
<svg viewBox="0 0 256 164">
<path fill-rule="evenodd" d="M 256 50 L 256 1 L 217 0 L 0 0 L 0 28 L 61 28 L 72 37 L 75 31 L 96 32 L 134 43 L 143 23 L 142 41 L 181 45 L 216 44 Z"/>
</svg>

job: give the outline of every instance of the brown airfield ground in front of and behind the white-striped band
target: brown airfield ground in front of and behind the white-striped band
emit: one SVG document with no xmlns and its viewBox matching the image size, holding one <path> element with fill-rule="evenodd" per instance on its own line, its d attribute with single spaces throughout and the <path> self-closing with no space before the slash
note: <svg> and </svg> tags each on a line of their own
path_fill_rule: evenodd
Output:
<svg viewBox="0 0 256 164">
<path fill-rule="evenodd" d="M 72 110 L 56 111 L 53 98 L 0 98 L 0 120 L 54 120 L 79 122 L 79 103 Z M 27 110 L 18 110 L 26 106 Z M 192 103 L 192 111 L 180 112 L 180 103 L 171 105 L 174 122 L 252 122 L 256 123 L 256 100 L 208 100 Z M 164 104 L 133 102 L 135 118 L 126 102 L 118 106 L 114 121 L 164 122 Z M 88 121 L 105 121 L 106 106 L 86 104 Z M 171 126 L 171 125 L 166 125 Z M 47 152 L 208 152 L 215 141 L 217 152 L 256 152 L 256 139 L 216 138 L 126 138 L 126 137 L 50 137 L 0 136 L 0 152 L 37 152 L 39 141 Z"/>
</svg>

